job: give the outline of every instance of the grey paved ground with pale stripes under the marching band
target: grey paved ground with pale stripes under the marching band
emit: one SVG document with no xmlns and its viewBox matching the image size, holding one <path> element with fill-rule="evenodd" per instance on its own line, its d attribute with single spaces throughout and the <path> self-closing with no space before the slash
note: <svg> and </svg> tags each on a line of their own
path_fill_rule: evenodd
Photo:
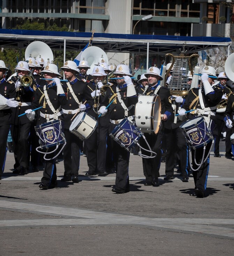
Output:
<svg viewBox="0 0 234 256">
<path fill-rule="evenodd" d="M 207 196 L 190 196 L 194 183 L 175 179 L 159 187 L 144 186 L 139 156 L 130 158 L 130 192 L 112 193 L 115 174 L 86 177 L 40 190 L 42 171 L 14 176 L 7 154 L 0 181 L 0 255 L 233 255 L 233 160 L 210 157 Z M 175 169 L 176 171 L 176 169 Z"/>
</svg>

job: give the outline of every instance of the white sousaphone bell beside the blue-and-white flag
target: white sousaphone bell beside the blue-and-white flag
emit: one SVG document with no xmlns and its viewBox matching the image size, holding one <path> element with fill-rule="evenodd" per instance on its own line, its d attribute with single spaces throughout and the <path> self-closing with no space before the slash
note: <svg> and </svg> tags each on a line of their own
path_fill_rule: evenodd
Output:
<svg viewBox="0 0 234 256">
<path fill-rule="evenodd" d="M 95 64 L 98 62 L 101 64 L 101 59 L 104 60 L 104 62 L 108 63 L 107 54 L 105 54 L 104 50 L 97 46 L 89 46 L 87 47 L 81 54 L 81 60 L 85 59 L 88 61 L 89 69 L 87 70 L 87 74 L 91 74 L 93 72 L 93 69 L 95 67 Z"/>
</svg>

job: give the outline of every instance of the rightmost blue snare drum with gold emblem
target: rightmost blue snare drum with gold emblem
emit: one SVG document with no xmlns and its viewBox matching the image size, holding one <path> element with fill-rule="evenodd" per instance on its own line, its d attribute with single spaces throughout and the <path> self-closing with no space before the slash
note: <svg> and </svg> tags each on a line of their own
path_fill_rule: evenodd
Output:
<svg viewBox="0 0 234 256">
<path fill-rule="evenodd" d="M 189 146 L 192 148 L 203 147 L 214 139 L 203 116 L 188 120 L 183 123 L 180 128 L 189 143 Z"/>
</svg>

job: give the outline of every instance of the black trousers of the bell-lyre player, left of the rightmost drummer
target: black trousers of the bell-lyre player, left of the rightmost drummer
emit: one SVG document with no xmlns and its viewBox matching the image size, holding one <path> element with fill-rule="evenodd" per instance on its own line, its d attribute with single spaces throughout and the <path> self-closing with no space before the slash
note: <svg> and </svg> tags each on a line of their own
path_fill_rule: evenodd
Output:
<svg viewBox="0 0 234 256">
<path fill-rule="evenodd" d="M 174 174 L 176 151 L 180 158 L 181 173 L 188 175 L 188 146 L 180 127 L 171 130 L 164 129 L 164 135 L 167 140 L 166 175 L 173 176 Z"/>
</svg>

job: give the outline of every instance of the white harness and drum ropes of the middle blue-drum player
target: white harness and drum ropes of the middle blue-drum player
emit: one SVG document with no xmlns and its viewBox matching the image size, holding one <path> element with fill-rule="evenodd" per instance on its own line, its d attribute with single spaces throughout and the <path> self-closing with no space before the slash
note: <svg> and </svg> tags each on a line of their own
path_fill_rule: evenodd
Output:
<svg viewBox="0 0 234 256">
<path fill-rule="evenodd" d="M 123 109 L 124 109 L 124 116 L 125 116 L 125 118 L 128 119 L 128 120 L 131 122 L 134 117 L 133 117 L 133 116 L 129 116 L 129 117 L 128 117 L 128 116 L 127 116 L 127 113 L 128 113 L 128 111 L 129 111 L 130 109 L 132 109 L 133 105 L 131 105 L 129 108 L 126 107 L 125 103 L 124 103 L 124 102 L 122 101 L 122 99 L 121 99 L 121 95 L 120 95 L 120 93 L 119 93 L 118 87 L 116 87 L 116 94 L 117 94 L 119 103 L 121 104 L 121 106 L 122 106 Z M 123 120 L 123 119 L 120 119 L 120 120 L 117 120 L 117 121 L 118 121 L 118 123 L 120 123 L 122 120 Z M 110 122 L 111 122 L 111 123 L 114 123 L 114 122 L 112 122 L 112 121 L 115 122 L 115 120 L 111 120 L 111 119 L 110 119 Z M 115 124 L 115 123 L 114 123 L 114 124 Z M 122 129 L 122 128 L 121 128 L 121 129 Z M 123 130 L 125 133 L 128 133 L 126 130 L 124 130 L 124 129 L 122 129 L 122 130 Z M 133 131 L 133 130 L 132 130 L 132 132 L 133 132 L 133 133 L 139 133 L 140 131 L 139 131 L 139 132 L 136 132 L 136 131 Z M 147 144 L 149 150 L 148 150 L 148 149 L 145 149 L 145 148 L 142 148 L 138 142 L 135 141 L 135 143 L 136 143 L 137 146 L 139 146 L 141 149 L 143 149 L 143 150 L 145 150 L 145 151 L 147 151 L 147 152 L 150 152 L 151 154 L 150 154 L 150 156 L 147 156 L 147 155 L 138 153 L 138 155 L 139 155 L 140 157 L 142 157 L 142 158 L 154 158 L 154 157 L 156 157 L 157 154 L 156 154 L 154 151 L 152 151 L 151 147 L 149 146 L 149 144 L 148 144 L 148 142 L 147 142 L 147 140 L 146 140 L 146 137 L 144 136 L 144 133 L 142 133 L 142 132 L 140 132 L 140 133 L 141 133 L 141 135 L 142 135 L 142 138 L 145 140 L 145 142 L 146 142 L 146 144 Z M 130 136 L 130 135 L 129 135 L 129 136 Z M 133 138 L 131 138 L 131 139 L 133 139 Z"/>
</svg>

